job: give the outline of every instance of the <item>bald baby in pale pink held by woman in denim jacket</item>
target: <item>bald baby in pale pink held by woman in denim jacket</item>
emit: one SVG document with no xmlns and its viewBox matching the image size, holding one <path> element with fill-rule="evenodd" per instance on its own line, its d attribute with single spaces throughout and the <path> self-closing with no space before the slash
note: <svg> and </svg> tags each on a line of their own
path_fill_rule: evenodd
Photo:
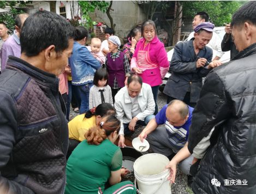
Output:
<svg viewBox="0 0 256 194">
<path fill-rule="evenodd" d="M 86 47 L 92 53 L 94 58 L 96 58 L 101 64 L 104 64 L 106 57 L 104 56 L 103 52 L 100 51 L 100 46 L 102 46 L 102 41 L 99 38 L 92 38 L 91 46 Z"/>
</svg>

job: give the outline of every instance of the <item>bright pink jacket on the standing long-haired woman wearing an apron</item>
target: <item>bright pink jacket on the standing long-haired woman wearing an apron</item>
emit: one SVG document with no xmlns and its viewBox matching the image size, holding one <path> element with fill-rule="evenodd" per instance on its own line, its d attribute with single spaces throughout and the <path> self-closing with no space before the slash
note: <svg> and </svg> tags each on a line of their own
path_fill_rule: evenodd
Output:
<svg viewBox="0 0 256 194">
<path fill-rule="evenodd" d="M 139 50 L 143 50 L 145 38 L 139 40 L 136 45 L 135 52 L 133 54 L 133 58 L 130 62 L 130 69 L 140 68 L 137 63 L 137 56 Z M 144 51 L 148 50 L 148 45 L 144 48 Z M 157 36 L 150 43 L 149 48 L 149 57 L 153 64 L 158 64 L 157 68 L 152 69 L 150 66 L 148 69 L 144 70 L 140 76 L 142 77 L 142 81 L 144 83 L 150 84 L 150 86 L 158 86 L 162 84 L 162 79 L 165 74 L 169 70 L 169 61 L 167 58 L 167 54 L 164 48 L 164 44 L 160 42 Z"/>
</svg>

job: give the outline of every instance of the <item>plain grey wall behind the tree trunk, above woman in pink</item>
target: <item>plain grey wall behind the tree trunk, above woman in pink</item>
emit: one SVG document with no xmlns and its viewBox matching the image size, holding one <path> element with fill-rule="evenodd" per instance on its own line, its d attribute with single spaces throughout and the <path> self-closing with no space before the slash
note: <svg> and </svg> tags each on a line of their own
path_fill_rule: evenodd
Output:
<svg viewBox="0 0 256 194">
<path fill-rule="evenodd" d="M 115 33 L 122 38 L 126 38 L 130 30 L 137 25 L 146 20 L 145 14 L 142 9 L 132 1 L 113 1 L 112 9 L 110 15 L 116 24 Z M 106 13 L 102 13 L 98 10 L 91 14 L 92 20 L 97 22 L 104 22 L 110 27 L 110 21 Z"/>
</svg>

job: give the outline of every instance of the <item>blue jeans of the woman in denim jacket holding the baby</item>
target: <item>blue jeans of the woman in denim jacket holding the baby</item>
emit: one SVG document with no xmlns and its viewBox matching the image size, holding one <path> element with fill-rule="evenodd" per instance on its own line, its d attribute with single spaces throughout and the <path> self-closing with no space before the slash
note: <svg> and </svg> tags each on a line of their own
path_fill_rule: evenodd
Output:
<svg viewBox="0 0 256 194">
<path fill-rule="evenodd" d="M 93 86 L 93 83 L 87 83 L 87 84 L 78 86 L 80 98 L 81 98 L 79 114 L 85 113 L 89 110 L 89 94 L 90 94 L 90 88 L 92 86 Z"/>
</svg>

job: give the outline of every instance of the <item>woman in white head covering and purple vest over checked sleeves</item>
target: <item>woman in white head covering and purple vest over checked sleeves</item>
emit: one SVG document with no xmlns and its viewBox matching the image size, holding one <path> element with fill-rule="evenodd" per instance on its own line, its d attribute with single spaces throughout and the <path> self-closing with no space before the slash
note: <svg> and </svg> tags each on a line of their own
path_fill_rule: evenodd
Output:
<svg viewBox="0 0 256 194">
<path fill-rule="evenodd" d="M 110 36 L 108 44 L 110 53 L 106 55 L 106 67 L 109 72 L 112 99 L 115 102 L 115 95 L 118 90 L 127 85 L 127 78 L 130 76 L 130 65 L 126 54 L 119 50 L 121 43 L 117 36 Z"/>
</svg>

